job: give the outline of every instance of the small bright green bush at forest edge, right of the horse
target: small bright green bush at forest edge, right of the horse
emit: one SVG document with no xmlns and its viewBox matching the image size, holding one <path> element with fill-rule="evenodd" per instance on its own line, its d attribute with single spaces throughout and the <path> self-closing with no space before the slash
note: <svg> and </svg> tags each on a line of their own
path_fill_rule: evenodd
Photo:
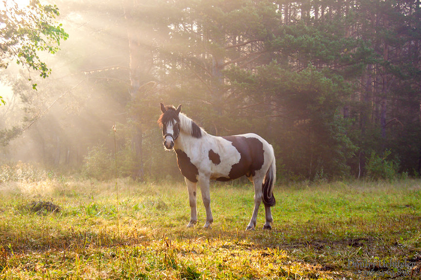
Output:
<svg viewBox="0 0 421 280">
<path fill-rule="evenodd" d="M 368 178 L 389 181 L 396 178 L 399 165 L 395 161 L 387 159 L 390 154 L 390 150 L 384 151 L 382 156 L 379 156 L 375 151 L 371 152 L 366 164 Z"/>
</svg>

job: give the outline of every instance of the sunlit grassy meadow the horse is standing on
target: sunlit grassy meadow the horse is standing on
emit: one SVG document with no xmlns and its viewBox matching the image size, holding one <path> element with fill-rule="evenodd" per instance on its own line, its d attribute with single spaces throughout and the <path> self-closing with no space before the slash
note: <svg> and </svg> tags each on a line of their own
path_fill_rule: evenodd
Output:
<svg viewBox="0 0 421 280">
<path fill-rule="evenodd" d="M 212 183 L 212 229 L 198 197 L 187 229 L 182 182 L 0 184 L 0 279 L 421 279 L 420 180 L 277 186 L 271 231 L 250 184 Z"/>
</svg>

